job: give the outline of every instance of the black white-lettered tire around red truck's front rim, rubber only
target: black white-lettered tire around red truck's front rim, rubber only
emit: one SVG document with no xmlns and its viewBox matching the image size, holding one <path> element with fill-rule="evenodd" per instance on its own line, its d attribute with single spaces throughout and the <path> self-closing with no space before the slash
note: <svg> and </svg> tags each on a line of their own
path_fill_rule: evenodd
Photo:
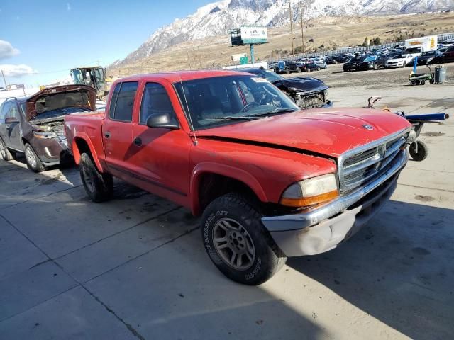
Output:
<svg viewBox="0 0 454 340">
<path fill-rule="evenodd" d="M 287 261 L 287 256 L 262 225 L 261 217 L 252 200 L 237 193 L 228 193 L 211 202 L 201 218 L 201 237 L 206 253 L 219 271 L 238 283 L 260 285 L 272 278 Z M 254 257 L 244 270 L 233 268 L 216 249 L 214 229 L 218 222 L 226 219 L 241 225 L 252 239 Z"/>
</svg>

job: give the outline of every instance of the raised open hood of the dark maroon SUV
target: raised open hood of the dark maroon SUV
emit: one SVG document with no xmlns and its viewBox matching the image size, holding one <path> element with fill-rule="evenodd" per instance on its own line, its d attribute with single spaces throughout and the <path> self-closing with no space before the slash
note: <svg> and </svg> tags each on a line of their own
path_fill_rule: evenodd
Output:
<svg viewBox="0 0 454 340">
<path fill-rule="evenodd" d="M 87 85 L 62 85 L 45 88 L 27 98 L 26 119 L 32 120 L 43 113 L 65 108 L 94 111 L 96 89 Z"/>
</svg>

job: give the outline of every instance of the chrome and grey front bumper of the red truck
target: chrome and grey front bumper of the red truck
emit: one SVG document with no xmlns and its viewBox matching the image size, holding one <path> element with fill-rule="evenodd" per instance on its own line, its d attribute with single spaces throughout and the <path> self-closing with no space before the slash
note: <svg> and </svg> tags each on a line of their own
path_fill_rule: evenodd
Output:
<svg viewBox="0 0 454 340">
<path fill-rule="evenodd" d="M 408 159 L 399 152 L 387 171 L 366 186 L 309 212 L 263 217 L 262 223 L 287 256 L 315 255 L 355 234 L 389 199 Z"/>
</svg>

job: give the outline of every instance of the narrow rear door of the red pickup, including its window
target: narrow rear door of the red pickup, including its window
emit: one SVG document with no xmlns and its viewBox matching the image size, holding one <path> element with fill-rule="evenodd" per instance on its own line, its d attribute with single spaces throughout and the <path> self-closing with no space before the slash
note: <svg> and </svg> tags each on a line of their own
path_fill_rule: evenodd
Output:
<svg viewBox="0 0 454 340">
<path fill-rule="evenodd" d="M 132 120 L 137 81 L 125 81 L 115 86 L 102 125 L 102 139 L 109 171 L 128 181 L 126 171 L 133 148 Z"/>
</svg>

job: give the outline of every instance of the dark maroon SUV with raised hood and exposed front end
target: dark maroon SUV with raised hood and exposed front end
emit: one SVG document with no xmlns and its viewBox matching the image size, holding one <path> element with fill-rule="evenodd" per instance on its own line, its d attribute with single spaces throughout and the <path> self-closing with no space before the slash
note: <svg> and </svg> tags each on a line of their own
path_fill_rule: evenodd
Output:
<svg viewBox="0 0 454 340">
<path fill-rule="evenodd" d="M 86 85 L 43 89 L 28 98 L 7 98 L 0 106 L 0 158 L 25 154 L 28 169 L 71 162 L 65 137 L 65 115 L 94 111 L 96 90 Z"/>
</svg>

